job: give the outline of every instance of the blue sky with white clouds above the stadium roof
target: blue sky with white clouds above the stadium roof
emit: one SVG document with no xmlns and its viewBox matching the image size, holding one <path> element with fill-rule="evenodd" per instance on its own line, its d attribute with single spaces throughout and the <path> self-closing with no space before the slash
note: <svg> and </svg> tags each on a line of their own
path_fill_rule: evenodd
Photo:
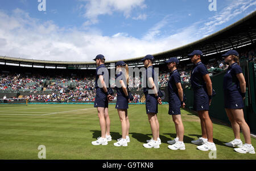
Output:
<svg viewBox="0 0 256 171">
<path fill-rule="evenodd" d="M 43 1 L 43 0 L 40 0 Z M 129 59 L 180 47 L 237 22 L 256 0 L 0 1 L 0 55 L 55 61 Z"/>
</svg>

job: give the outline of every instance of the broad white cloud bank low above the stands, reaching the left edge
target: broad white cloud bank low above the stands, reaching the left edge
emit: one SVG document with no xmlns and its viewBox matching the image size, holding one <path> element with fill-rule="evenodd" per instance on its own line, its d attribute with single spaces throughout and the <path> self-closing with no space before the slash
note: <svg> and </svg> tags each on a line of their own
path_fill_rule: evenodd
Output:
<svg viewBox="0 0 256 171">
<path fill-rule="evenodd" d="M 159 39 L 137 39 L 125 32 L 103 36 L 94 30 L 65 30 L 48 21 L 42 23 L 16 9 L 11 15 L 0 11 L 0 55 L 54 61 L 92 61 L 103 54 L 107 60 L 129 59 L 179 47 L 191 39 L 193 27 Z M 164 23 L 164 22 L 163 22 Z"/>
</svg>

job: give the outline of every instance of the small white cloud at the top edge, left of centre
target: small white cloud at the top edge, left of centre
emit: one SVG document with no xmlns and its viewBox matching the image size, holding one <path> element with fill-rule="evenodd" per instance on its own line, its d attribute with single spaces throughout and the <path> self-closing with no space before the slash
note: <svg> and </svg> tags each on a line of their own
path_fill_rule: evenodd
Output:
<svg viewBox="0 0 256 171">
<path fill-rule="evenodd" d="M 90 24 L 98 23 L 98 15 L 112 15 L 113 12 L 123 12 L 126 18 L 130 17 L 131 10 L 135 8 L 144 9 L 144 0 L 80 0 L 86 5 L 80 7 L 85 10 L 84 17 L 90 20 Z M 87 23 L 87 24 L 88 24 Z"/>
</svg>

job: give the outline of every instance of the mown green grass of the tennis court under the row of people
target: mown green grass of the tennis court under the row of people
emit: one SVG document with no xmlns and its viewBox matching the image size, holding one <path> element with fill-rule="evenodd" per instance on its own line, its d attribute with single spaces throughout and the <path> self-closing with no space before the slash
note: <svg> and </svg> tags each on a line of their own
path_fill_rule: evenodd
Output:
<svg viewBox="0 0 256 171">
<path fill-rule="evenodd" d="M 113 140 L 100 146 L 91 144 L 101 134 L 97 110 L 93 105 L 1 105 L 0 159 L 38 159 L 39 145 L 46 146 L 46 159 L 209 159 L 209 152 L 199 151 L 196 145 L 191 144 L 191 140 L 201 136 L 200 120 L 196 115 L 181 110 L 186 149 L 172 151 L 167 148 L 167 140 L 176 137 L 175 126 L 168 115 L 168 105 L 159 105 L 162 145 L 159 149 L 146 149 L 142 145 L 152 136 L 145 106 L 129 107 L 131 142 L 127 147 L 115 147 L 113 143 L 121 137 L 121 123 L 115 105 L 109 105 Z M 256 155 L 240 154 L 224 145 L 234 139 L 232 128 L 214 123 L 213 129 L 218 160 L 256 159 Z M 242 134 L 241 138 L 245 143 Z M 256 147 L 256 140 L 251 137 L 251 141 Z"/>
</svg>

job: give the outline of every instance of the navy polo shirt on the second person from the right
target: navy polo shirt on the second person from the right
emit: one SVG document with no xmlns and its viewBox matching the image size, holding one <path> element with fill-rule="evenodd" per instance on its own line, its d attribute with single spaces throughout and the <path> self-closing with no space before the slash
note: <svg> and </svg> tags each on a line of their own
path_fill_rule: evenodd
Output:
<svg viewBox="0 0 256 171">
<path fill-rule="evenodd" d="M 206 66 L 201 61 L 194 65 L 190 78 L 194 90 L 206 86 L 203 76 L 208 73 Z"/>
</svg>

